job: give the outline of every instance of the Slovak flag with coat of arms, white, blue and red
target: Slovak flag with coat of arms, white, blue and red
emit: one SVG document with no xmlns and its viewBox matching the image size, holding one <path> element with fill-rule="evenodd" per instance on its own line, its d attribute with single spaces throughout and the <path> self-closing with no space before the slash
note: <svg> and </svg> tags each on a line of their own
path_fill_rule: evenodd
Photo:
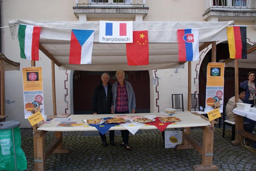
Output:
<svg viewBox="0 0 256 171">
<path fill-rule="evenodd" d="M 199 59 L 198 29 L 177 30 L 179 61 L 194 61 Z"/>
</svg>

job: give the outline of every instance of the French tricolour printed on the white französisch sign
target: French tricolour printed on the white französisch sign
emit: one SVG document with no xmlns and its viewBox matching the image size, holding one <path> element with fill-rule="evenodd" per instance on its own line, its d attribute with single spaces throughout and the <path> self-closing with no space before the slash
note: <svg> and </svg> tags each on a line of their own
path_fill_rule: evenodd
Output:
<svg viewBox="0 0 256 171">
<path fill-rule="evenodd" d="M 113 31 L 119 32 L 119 36 L 127 36 L 126 23 L 119 23 L 119 26 L 113 28 L 113 23 L 106 23 L 106 36 L 113 36 Z"/>
</svg>

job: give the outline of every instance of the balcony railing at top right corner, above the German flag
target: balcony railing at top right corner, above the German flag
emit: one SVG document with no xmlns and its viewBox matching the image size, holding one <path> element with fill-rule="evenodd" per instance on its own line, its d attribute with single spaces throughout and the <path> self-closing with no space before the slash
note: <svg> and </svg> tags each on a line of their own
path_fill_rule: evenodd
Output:
<svg viewBox="0 0 256 171">
<path fill-rule="evenodd" d="M 229 9 L 229 10 L 254 10 L 256 0 L 204 0 L 204 10 Z"/>
</svg>

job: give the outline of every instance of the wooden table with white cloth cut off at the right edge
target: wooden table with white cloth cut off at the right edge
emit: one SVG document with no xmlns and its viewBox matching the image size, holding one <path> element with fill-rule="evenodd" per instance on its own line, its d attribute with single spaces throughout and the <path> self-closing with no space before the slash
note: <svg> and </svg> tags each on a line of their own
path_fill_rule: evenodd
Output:
<svg viewBox="0 0 256 171">
<path fill-rule="evenodd" d="M 233 145 L 241 145 L 243 141 L 243 137 L 247 137 L 251 140 L 256 141 L 256 135 L 250 132 L 244 131 L 244 117 L 247 117 L 251 120 L 256 120 L 256 112 L 244 112 L 238 111 L 236 108 L 233 110 L 236 114 L 236 137 L 235 140 L 232 141 Z"/>
</svg>

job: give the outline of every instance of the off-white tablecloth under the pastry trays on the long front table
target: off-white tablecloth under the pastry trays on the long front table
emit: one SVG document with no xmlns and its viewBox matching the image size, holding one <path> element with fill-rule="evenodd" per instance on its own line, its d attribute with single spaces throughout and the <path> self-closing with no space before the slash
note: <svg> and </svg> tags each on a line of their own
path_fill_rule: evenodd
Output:
<svg viewBox="0 0 256 171">
<path fill-rule="evenodd" d="M 68 118 L 72 118 L 72 121 L 77 121 L 77 123 L 82 123 L 83 120 L 95 119 L 95 118 L 105 118 L 105 117 L 116 117 L 118 114 L 76 114 L 70 115 Z M 140 117 L 146 115 L 155 115 L 157 117 L 167 117 L 160 113 L 144 113 L 144 114 L 125 114 L 128 117 L 138 115 Z M 196 116 L 189 111 L 184 112 L 175 112 L 172 117 L 180 118 L 181 122 L 176 124 L 170 124 L 167 128 L 184 128 L 184 127 L 195 127 L 195 126 L 207 126 L 210 125 L 209 121 L 202 119 L 200 116 Z M 38 130 L 44 131 L 97 131 L 93 126 L 88 125 L 79 125 L 72 127 L 56 127 L 60 121 L 55 122 L 55 119 L 52 120 L 49 124 L 41 125 Z M 124 126 L 113 126 L 109 130 L 125 130 Z M 157 129 L 154 125 L 143 125 L 140 129 Z"/>
</svg>

